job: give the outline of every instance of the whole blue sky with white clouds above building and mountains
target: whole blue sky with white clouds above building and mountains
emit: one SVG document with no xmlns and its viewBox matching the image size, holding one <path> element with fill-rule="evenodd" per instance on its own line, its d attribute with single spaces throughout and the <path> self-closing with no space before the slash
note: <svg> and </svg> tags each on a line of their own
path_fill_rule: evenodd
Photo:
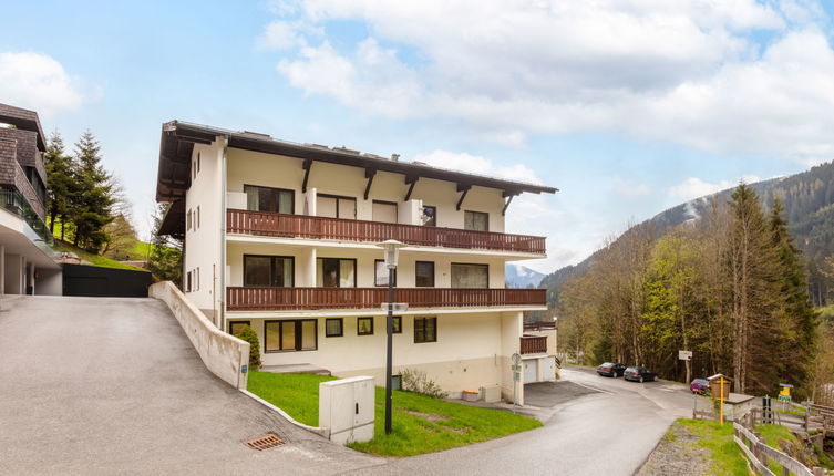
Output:
<svg viewBox="0 0 834 476">
<path fill-rule="evenodd" d="M 831 2 L 12 2 L 0 102 L 90 128 L 150 227 L 178 118 L 558 187 L 540 271 L 687 199 L 834 158 Z M 7 28 L 8 27 L 8 28 Z"/>
</svg>

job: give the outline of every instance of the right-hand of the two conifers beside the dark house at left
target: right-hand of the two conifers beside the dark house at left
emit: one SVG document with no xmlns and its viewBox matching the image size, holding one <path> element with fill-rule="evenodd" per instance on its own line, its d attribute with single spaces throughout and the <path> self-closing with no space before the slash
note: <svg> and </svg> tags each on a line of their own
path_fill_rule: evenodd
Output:
<svg viewBox="0 0 834 476">
<path fill-rule="evenodd" d="M 107 240 L 104 227 L 113 219 L 112 178 L 101 165 L 101 146 L 90 131 L 75 143 L 78 183 L 81 186 L 72 221 L 75 225 L 75 246 L 92 251 Z"/>
</svg>

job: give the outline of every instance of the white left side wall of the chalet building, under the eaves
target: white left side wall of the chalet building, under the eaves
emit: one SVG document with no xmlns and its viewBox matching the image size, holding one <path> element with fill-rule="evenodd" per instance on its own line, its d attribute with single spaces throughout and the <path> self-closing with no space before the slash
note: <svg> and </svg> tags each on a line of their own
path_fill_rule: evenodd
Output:
<svg viewBox="0 0 834 476">
<path fill-rule="evenodd" d="M 196 166 L 199 154 L 199 172 L 192 175 L 192 186 L 185 196 L 186 216 L 191 210 L 197 213 L 199 207 L 199 226 L 196 219 L 185 231 L 185 259 L 183 282 L 186 273 L 192 272 L 192 291 L 186 297 L 210 320 L 219 315 L 222 236 L 223 236 L 223 153 L 224 144 L 216 141 L 210 145 L 197 144 L 192 154 L 192 167 Z M 194 276 L 199 269 L 199 287 Z"/>
</svg>

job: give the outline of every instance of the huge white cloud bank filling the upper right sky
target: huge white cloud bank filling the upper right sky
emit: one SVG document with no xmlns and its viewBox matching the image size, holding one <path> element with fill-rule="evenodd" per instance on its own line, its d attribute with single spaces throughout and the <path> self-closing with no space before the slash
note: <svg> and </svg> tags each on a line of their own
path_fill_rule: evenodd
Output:
<svg viewBox="0 0 834 476">
<path fill-rule="evenodd" d="M 308 44 L 278 71 L 373 114 L 461 120 L 513 146 L 614 132 L 723 154 L 834 155 L 834 51 L 813 0 L 310 0 L 298 11 L 319 27 L 364 21 L 369 37 Z M 760 31 L 775 40 L 760 46 Z"/>
</svg>

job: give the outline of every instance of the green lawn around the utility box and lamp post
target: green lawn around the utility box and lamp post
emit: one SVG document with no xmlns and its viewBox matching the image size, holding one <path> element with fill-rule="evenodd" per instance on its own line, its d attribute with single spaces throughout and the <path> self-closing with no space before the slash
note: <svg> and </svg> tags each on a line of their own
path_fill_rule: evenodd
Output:
<svg viewBox="0 0 834 476">
<path fill-rule="evenodd" d="M 280 407 L 297 421 L 318 426 L 319 383 L 332 377 L 251 372 L 249 392 Z M 385 435 L 385 389 L 377 387 L 375 436 L 353 449 L 382 456 L 413 456 L 498 438 L 542 426 L 537 420 L 491 408 L 394 391 L 393 427 Z"/>
</svg>

